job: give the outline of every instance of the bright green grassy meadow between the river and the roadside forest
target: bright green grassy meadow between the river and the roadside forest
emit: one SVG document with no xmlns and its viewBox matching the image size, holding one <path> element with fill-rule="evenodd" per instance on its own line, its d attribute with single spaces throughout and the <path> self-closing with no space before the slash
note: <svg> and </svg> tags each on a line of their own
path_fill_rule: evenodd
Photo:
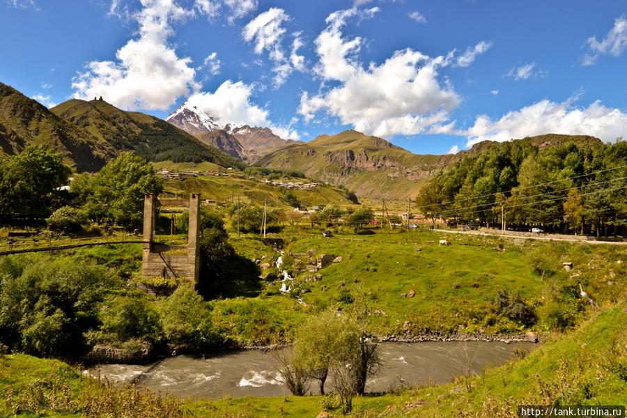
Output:
<svg viewBox="0 0 627 418">
<path fill-rule="evenodd" d="M 617 300 L 626 292 L 624 279 L 607 285 L 610 274 L 624 277 L 623 264 L 614 263 L 624 258 L 624 249 L 603 247 L 590 254 L 580 245 L 527 242 L 518 246 L 471 236 L 450 237 L 452 245 L 440 247 L 438 240 L 444 235 L 428 232 L 331 239 L 318 235 L 298 239 L 288 250 L 314 249 L 316 254 L 343 256 L 343 261 L 320 270 L 321 281 L 307 281 L 308 273 L 297 277 L 302 288 L 311 291 L 303 295 L 304 301 L 320 309 L 336 303 L 347 291 L 353 297 L 365 293 L 371 307 L 386 314 L 376 319 L 381 334 L 401 332 L 406 320 L 414 332 L 454 332 L 458 327 L 477 332 L 487 328 L 483 318 L 501 288 L 519 292 L 531 303 L 550 298 L 552 285 L 576 285 L 578 280 L 599 303 Z M 498 245 L 504 245 L 505 251 L 498 251 Z M 532 267 L 534 261 L 547 263 L 552 276 L 540 277 Z M 573 261 L 573 273 L 581 277 L 571 278 L 560 269 L 562 261 Z M 415 297 L 401 297 L 410 290 Z M 496 326 L 486 330 L 499 331 Z"/>
</svg>

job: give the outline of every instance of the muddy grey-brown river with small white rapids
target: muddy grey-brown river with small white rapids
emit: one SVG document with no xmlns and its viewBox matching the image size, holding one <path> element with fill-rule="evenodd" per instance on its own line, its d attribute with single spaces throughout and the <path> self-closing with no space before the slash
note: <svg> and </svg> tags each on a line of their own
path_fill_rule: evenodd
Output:
<svg viewBox="0 0 627 418">
<path fill-rule="evenodd" d="M 464 349 L 465 345 L 465 349 Z M 368 392 L 398 387 L 401 379 L 407 385 L 427 380 L 450 382 L 472 364 L 472 373 L 486 366 L 504 364 L 515 348 L 531 350 L 532 343 L 469 341 L 458 343 L 381 343 L 385 366 L 368 380 Z M 155 364 L 102 364 L 89 369 L 114 384 L 138 382 L 141 387 L 168 392 L 184 398 L 222 398 L 223 396 L 281 396 L 289 394 L 276 371 L 276 357 L 260 350 L 234 351 L 214 357 L 178 355 Z M 331 389 L 331 385 L 329 385 Z M 311 392 L 318 393 L 315 383 Z"/>
</svg>

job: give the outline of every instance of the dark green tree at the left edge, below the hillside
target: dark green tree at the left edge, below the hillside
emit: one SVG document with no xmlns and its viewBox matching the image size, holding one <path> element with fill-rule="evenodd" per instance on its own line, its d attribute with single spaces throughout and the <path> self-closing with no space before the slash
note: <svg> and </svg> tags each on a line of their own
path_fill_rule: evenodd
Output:
<svg viewBox="0 0 627 418">
<path fill-rule="evenodd" d="M 70 167 L 61 154 L 43 145 L 0 161 L 0 213 L 18 217 L 49 215 L 67 184 Z M 47 213 L 46 213 L 47 212 Z"/>
</svg>

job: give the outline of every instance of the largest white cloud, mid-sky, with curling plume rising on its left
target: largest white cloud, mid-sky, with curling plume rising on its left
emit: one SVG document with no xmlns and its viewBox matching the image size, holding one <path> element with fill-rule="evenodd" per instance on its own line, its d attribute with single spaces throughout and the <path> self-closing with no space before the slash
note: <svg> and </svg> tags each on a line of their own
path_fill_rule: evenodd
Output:
<svg viewBox="0 0 627 418">
<path fill-rule="evenodd" d="M 459 102 L 438 69 L 449 65 L 449 56 L 431 58 L 412 49 L 396 51 L 380 65 L 358 63 L 361 38 L 343 38 L 341 28 L 349 17 L 369 17 L 378 9 L 340 10 L 327 17 L 327 27 L 316 39 L 320 61 L 316 72 L 339 82 L 326 92 L 300 98 L 298 113 L 311 121 L 318 112 L 338 117 L 342 124 L 381 137 L 418 134 L 447 121 L 448 111 Z"/>
</svg>

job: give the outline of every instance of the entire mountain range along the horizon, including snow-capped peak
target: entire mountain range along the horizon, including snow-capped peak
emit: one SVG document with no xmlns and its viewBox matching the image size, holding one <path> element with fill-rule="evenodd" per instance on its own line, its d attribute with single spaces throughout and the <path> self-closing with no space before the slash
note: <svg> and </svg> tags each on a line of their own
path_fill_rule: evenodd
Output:
<svg viewBox="0 0 627 418">
<path fill-rule="evenodd" d="M 539 149 L 594 137 L 546 134 L 522 139 Z M 167 121 L 123 111 L 104 100 L 63 102 L 47 109 L 0 83 L 0 154 L 15 155 L 29 144 L 59 150 L 77 171 L 98 171 L 123 150 L 153 162 L 208 161 L 222 167 L 255 164 L 302 171 L 307 177 L 342 185 L 360 197 L 417 196 L 436 172 L 499 143 L 484 141 L 447 155 L 417 155 L 385 139 L 355 130 L 320 135 L 307 143 L 278 137 L 268 127 L 224 123 L 186 104 Z"/>
</svg>

